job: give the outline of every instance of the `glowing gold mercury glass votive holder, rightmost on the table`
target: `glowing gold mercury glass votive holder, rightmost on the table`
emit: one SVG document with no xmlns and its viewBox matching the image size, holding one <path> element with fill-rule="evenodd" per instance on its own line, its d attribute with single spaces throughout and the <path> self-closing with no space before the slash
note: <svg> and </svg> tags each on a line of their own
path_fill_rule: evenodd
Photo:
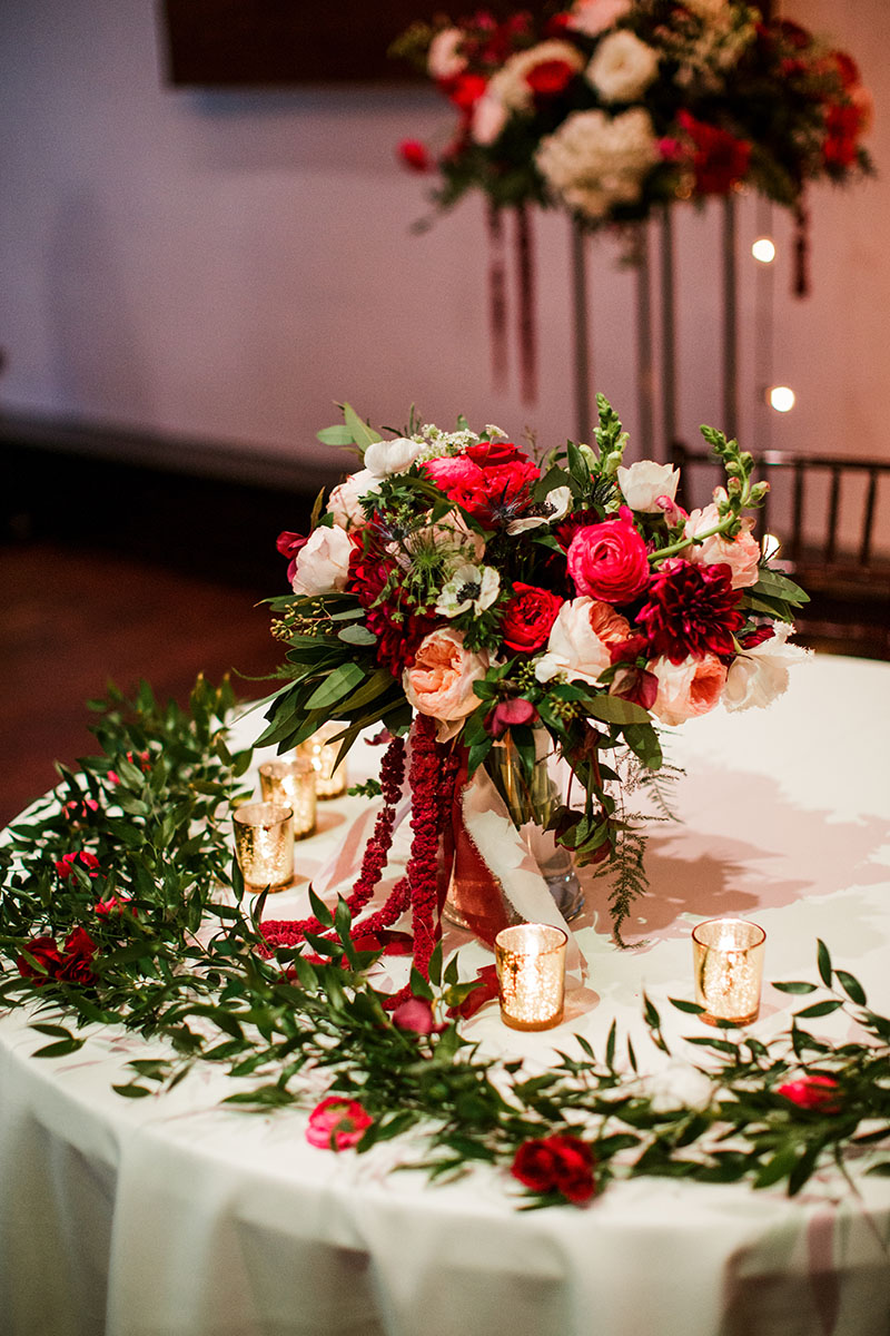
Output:
<svg viewBox="0 0 890 1336">
<path fill-rule="evenodd" d="M 747 919 L 707 919 L 693 929 L 695 1001 L 709 1025 L 750 1025 L 761 1010 L 766 933 Z"/>
</svg>

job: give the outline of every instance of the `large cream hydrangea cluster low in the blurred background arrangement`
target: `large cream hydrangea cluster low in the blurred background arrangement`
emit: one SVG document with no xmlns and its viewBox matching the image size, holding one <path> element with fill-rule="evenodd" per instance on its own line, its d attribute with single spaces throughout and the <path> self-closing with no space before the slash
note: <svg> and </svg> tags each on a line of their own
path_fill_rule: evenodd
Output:
<svg viewBox="0 0 890 1336">
<path fill-rule="evenodd" d="M 643 178 L 658 162 L 652 122 L 642 107 L 618 116 L 576 111 L 542 139 L 535 160 L 570 208 L 604 218 L 612 204 L 639 199 Z"/>
</svg>

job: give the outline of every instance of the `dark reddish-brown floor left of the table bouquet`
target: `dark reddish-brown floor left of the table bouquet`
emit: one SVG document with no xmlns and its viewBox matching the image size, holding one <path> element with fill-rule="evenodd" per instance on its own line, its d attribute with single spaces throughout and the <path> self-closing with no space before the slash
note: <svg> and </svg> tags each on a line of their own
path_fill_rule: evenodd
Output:
<svg viewBox="0 0 890 1336">
<path fill-rule="evenodd" d="M 284 582 L 282 589 L 284 589 Z M 0 826 L 51 788 L 55 760 L 91 755 L 84 703 L 111 679 L 148 679 L 184 703 L 199 672 L 232 671 L 244 699 L 266 695 L 280 659 L 275 589 L 239 589 L 107 552 L 49 542 L 0 545 Z"/>
</svg>

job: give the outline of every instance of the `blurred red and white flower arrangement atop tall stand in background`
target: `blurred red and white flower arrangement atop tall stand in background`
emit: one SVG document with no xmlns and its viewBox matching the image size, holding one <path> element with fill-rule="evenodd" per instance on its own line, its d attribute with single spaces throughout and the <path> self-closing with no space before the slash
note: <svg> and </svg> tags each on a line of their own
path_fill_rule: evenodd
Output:
<svg viewBox="0 0 890 1336">
<path fill-rule="evenodd" d="M 406 163 L 435 199 L 560 204 L 590 227 L 750 187 L 799 207 L 807 182 L 870 168 L 871 99 L 850 55 L 741 0 L 575 0 L 415 23 L 395 44 L 456 124 Z"/>
</svg>

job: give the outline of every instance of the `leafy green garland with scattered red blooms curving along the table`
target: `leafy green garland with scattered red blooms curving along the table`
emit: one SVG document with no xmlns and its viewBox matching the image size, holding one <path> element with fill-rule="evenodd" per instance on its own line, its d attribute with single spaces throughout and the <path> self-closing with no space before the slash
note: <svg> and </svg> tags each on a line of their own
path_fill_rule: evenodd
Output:
<svg viewBox="0 0 890 1336">
<path fill-rule="evenodd" d="M 428 981 L 412 974 L 410 1011 L 390 1015 L 367 973 L 380 951 L 356 947 L 342 900 L 332 910 L 312 899 L 328 931 L 308 939 L 310 955 L 264 954 L 264 898 L 247 903 L 231 864 L 228 814 L 251 752 L 230 749 L 228 684 L 199 679 L 188 711 L 160 707 L 145 685 L 133 701 L 112 689 L 95 708 L 101 755 L 77 775 L 61 770 L 56 794 L 0 848 L 0 1006 L 32 1007 L 45 1041 L 35 1057 L 76 1051 L 87 1026 L 123 1026 L 164 1041 L 167 1055 L 127 1063 L 121 1096 L 160 1096 L 215 1062 L 240 1078 L 224 1102 L 246 1110 L 308 1106 L 327 1077 L 328 1094 L 364 1114 L 346 1141 L 359 1153 L 414 1133 L 406 1168 L 432 1178 L 474 1161 L 512 1168 L 531 1206 L 582 1202 L 640 1174 L 797 1193 L 831 1164 L 849 1176 L 865 1152 L 870 1173 L 890 1176 L 890 1019 L 823 943 L 818 985 L 775 985 L 805 1005 L 774 1039 L 687 1038 L 702 1050 L 701 1065 L 681 1067 L 682 1085 L 697 1086 L 691 1101 L 663 1073 L 640 1074 L 615 1023 L 602 1054 L 576 1035 L 576 1055 L 530 1074 L 464 1037 L 459 1009 L 475 981 L 458 981 L 456 958 L 443 967 L 440 949 Z M 60 939 L 79 931 L 91 947 L 76 969 L 59 969 Z M 834 1011 L 862 1038 L 833 1045 L 809 1029 Z M 644 1021 L 670 1057 L 651 999 Z M 574 1156 L 574 1177 L 550 1173 L 560 1156 Z"/>
</svg>

